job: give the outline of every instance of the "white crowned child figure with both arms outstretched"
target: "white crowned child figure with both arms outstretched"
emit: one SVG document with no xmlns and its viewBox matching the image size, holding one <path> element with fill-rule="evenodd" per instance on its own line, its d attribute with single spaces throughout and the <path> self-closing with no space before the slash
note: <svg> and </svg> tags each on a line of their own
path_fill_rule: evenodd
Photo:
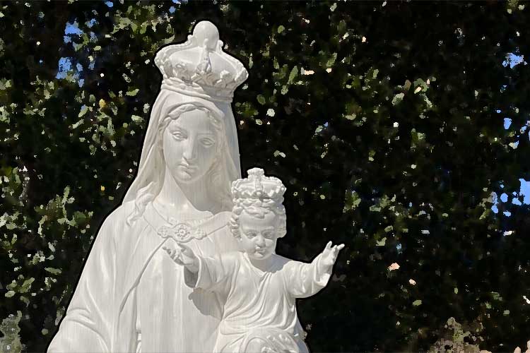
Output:
<svg viewBox="0 0 530 353">
<path fill-rule="evenodd" d="M 308 352 L 296 313 L 296 298 L 324 288 L 344 245 L 331 241 L 312 263 L 275 253 L 285 235 L 286 217 L 280 179 L 263 169 L 248 171 L 232 183 L 232 234 L 242 252 L 200 257 L 179 243 L 165 247 L 184 266 L 189 287 L 218 292 L 225 299 L 214 352 Z"/>
</svg>

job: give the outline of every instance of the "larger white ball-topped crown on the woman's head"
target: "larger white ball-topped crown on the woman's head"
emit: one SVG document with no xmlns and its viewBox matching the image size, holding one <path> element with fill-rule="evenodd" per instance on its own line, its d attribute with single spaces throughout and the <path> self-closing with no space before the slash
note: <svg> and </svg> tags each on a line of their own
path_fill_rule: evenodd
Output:
<svg viewBox="0 0 530 353">
<path fill-rule="evenodd" d="M 232 102 L 249 76 L 241 61 L 223 52 L 216 25 L 201 21 L 186 42 L 163 47 L 155 56 L 162 88 L 217 102 Z"/>
</svg>

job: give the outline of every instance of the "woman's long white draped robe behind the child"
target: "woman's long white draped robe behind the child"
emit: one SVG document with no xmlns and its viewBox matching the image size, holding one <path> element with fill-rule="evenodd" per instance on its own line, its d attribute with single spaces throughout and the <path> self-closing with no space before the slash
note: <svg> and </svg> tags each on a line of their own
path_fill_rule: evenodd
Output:
<svg viewBox="0 0 530 353">
<path fill-rule="evenodd" d="M 127 202 L 103 222 L 47 352 L 213 352 L 225 298 L 184 284 L 182 267 L 162 248 L 167 222 L 148 204 L 127 225 Z M 234 251 L 230 213 L 201 224 L 208 236 L 187 245 L 201 256 Z"/>
</svg>

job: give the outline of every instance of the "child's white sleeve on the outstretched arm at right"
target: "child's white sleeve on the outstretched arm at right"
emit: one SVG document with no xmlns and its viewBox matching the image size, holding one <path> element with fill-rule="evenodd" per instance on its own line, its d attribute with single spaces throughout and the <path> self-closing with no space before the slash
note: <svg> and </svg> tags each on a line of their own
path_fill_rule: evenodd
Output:
<svg viewBox="0 0 530 353">
<path fill-rule="evenodd" d="M 306 298 L 326 287 L 331 277 L 331 266 L 321 263 L 322 253 L 312 263 L 290 261 L 286 288 L 295 298 Z"/>
</svg>

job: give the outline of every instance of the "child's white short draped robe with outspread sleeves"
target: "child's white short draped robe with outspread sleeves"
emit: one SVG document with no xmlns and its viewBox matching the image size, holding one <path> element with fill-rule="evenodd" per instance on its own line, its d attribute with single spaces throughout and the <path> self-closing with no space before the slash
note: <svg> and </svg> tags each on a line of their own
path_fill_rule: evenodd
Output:
<svg viewBox="0 0 530 353">
<path fill-rule="evenodd" d="M 269 268 L 259 270 L 247 253 L 199 256 L 199 273 L 186 284 L 225 298 L 213 352 L 247 352 L 249 342 L 257 338 L 271 352 L 307 353 L 295 300 L 326 286 L 331 267 L 323 266 L 321 259 L 322 254 L 302 263 L 273 253 Z"/>
</svg>

